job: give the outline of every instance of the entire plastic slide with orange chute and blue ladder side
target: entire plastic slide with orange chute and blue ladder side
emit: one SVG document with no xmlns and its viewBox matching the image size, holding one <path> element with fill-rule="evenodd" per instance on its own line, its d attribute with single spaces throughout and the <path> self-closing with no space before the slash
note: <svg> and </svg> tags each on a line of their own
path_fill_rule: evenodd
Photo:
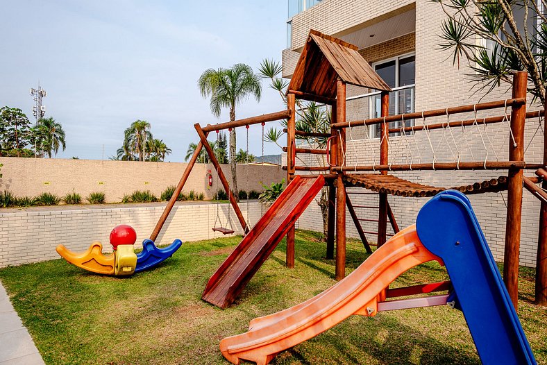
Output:
<svg viewBox="0 0 547 365">
<path fill-rule="evenodd" d="M 432 260 L 446 266 L 448 294 L 385 300 L 385 290 L 399 275 Z M 223 339 L 220 350 L 233 364 L 266 365 L 349 316 L 447 304 L 463 312 L 483 364 L 537 364 L 471 203 L 453 190 L 428 201 L 415 225 L 398 232 L 344 280 L 304 303 L 253 319 L 248 332 Z"/>
</svg>

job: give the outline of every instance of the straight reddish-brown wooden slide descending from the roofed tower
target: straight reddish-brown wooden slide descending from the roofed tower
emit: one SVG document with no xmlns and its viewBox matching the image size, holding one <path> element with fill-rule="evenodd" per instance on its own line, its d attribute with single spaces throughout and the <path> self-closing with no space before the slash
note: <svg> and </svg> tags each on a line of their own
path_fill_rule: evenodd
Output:
<svg viewBox="0 0 547 365">
<path fill-rule="evenodd" d="M 264 216 L 243 238 L 207 283 L 203 300 L 222 309 L 230 306 L 310 205 L 324 185 L 323 176 L 295 176 Z"/>
</svg>

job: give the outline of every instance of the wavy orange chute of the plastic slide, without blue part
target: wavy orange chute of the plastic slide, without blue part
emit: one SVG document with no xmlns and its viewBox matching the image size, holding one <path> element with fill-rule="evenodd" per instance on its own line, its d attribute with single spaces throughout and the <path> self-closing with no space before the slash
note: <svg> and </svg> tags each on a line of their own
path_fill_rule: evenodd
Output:
<svg viewBox="0 0 547 365">
<path fill-rule="evenodd" d="M 317 336 L 348 316 L 374 316 L 383 289 L 405 271 L 431 260 L 442 264 L 421 244 L 415 226 L 405 228 L 330 289 L 292 308 L 253 319 L 249 332 L 223 339 L 222 355 L 233 364 L 248 360 L 266 365 L 281 351 Z"/>
</svg>

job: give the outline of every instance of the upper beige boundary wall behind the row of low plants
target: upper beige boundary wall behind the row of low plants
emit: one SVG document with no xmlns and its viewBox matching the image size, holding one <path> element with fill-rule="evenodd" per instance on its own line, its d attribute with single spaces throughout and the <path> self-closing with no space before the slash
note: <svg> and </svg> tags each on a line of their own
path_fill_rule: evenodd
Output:
<svg viewBox="0 0 547 365">
<path fill-rule="evenodd" d="M 49 158 L 0 158 L 3 163 L 0 191 L 9 190 L 17 196 L 36 196 L 50 192 L 64 196 L 74 191 L 83 198 L 91 192 L 104 192 L 108 203 L 119 202 L 124 194 L 135 190 L 150 190 L 160 196 L 169 185 L 177 185 L 187 164 L 179 162 L 135 162 L 103 160 L 62 160 Z M 205 178 L 212 171 L 213 186 L 208 188 Z M 222 166 L 228 181 L 230 167 Z M 237 165 L 238 187 L 262 191 L 260 181 L 269 185 L 285 177 L 278 166 Z M 196 164 L 183 192 L 205 194 L 212 198 L 221 189 L 217 173 L 211 164 Z"/>
</svg>

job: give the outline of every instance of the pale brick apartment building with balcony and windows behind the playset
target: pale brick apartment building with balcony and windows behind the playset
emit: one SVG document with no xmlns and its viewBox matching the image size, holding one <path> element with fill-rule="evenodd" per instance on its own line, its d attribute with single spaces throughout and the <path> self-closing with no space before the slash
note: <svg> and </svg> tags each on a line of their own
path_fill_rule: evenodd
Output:
<svg viewBox="0 0 547 365">
<path fill-rule="evenodd" d="M 376 72 L 392 87 L 389 97 L 389 114 L 402 114 L 423 110 L 447 108 L 484 101 L 510 99 L 510 89 L 502 85 L 488 95 L 472 90 L 469 73 L 462 63 L 453 65 L 451 53 L 439 47 L 441 22 L 444 12 L 438 3 L 427 0 L 289 0 L 287 19 L 287 49 L 282 51 L 283 77 L 290 78 L 298 61 L 310 29 L 339 37 L 355 44 L 360 54 Z M 528 22 L 534 31 L 536 19 Z M 477 40 L 481 42 L 481 40 Z M 372 90 L 348 86 L 348 121 L 367 119 L 380 115 L 380 95 Z M 532 97 L 529 96 L 530 101 Z M 537 110 L 528 103 L 528 110 Z M 498 110 L 502 115 L 504 110 Z M 480 114 L 487 117 L 491 114 Z M 457 116 L 457 119 L 473 119 L 473 113 Z M 446 117 L 434 120 L 407 120 L 405 126 L 419 126 L 433 121 L 446 121 Z M 542 121 L 528 119 L 525 128 L 525 161 L 542 162 Z M 392 124 L 399 128 L 403 123 Z M 453 162 L 482 160 L 507 160 L 510 133 L 508 123 L 500 126 L 476 126 L 476 128 L 440 130 L 439 133 L 418 131 L 394 133 L 390 136 L 389 154 L 393 163 Z M 351 164 L 378 163 L 379 131 L 376 126 L 348 128 L 346 162 Z M 314 164 L 313 159 L 308 161 Z M 439 187 L 472 184 L 498 176 L 507 170 L 496 171 L 408 171 L 394 173 L 413 182 Z M 525 171 L 533 175 L 533 171 Z M 528 192 L 523 197 L 520 262 L 535 266 L 539 229 L 539 201 Z M 470 196 L 473 208 L 496 260 L 503 261 L 505 241 L 506 193 L 487 193 Z M 354 205 L 377 204 L 376 196 L 355 196 Z M 414 223 L 420 207 L 427 198 L 402 198 L 390 196 L 400 227 Z M 362 211 L 364 219 L 377 212 Z M 351 219 L 347 232 L 357 237 Z M 312 205 L 299 221 L 299 228 L 322 230 L 319 207 Z M 376 223 L 363 221 L 364 230 L 373 232 Z M 371 235 L 371 241 L 376 238 Z"/>
</svg>

